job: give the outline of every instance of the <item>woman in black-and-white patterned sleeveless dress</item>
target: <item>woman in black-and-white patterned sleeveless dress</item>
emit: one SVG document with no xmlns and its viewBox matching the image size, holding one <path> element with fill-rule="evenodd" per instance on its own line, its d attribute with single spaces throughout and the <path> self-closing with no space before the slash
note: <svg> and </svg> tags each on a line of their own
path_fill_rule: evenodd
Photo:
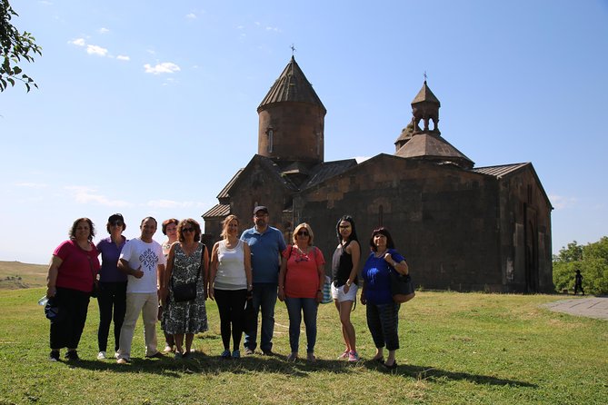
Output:
<svg viewBox="0 0 608 405">
<path fill-rule="evenodd" d="M 177 225 L 177 239 L 167 257 L 164 277 L 164 331 L 174 335 L 175 359 L 192 351 L 194 334 L 207 331 L 207 312 L 204 307 L 204 281 L 209 271 L 209 253 L 201 240 L 201 226 L 192 218 Z M 196 283 L 193 301 L 175 302 L 173 287 L 188 282 Z M 185 336 L 185 350 L 184 350 Z"/>
</svg>

